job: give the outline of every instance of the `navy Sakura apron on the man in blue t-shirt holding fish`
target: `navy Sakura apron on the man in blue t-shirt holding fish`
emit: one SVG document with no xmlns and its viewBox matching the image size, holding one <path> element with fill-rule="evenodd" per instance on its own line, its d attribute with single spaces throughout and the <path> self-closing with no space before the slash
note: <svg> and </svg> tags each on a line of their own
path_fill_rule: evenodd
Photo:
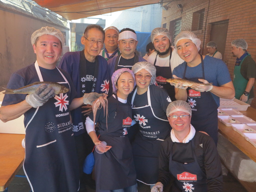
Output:
<svg viewBox="0 0 256 192">
<path fill-rule="evenodd" d="M 185 65 L 183 79 L 202 83 L 198 79 L 205 79 L 204 60 L 202 55 L 202 77 L 186 78 L 187 63 Z M 214 140 L 218 142 L 218 106 L 212 97 L 210 91 L 200 92 L 192 88 L 187 88 L 187 102 L 192 109 L 191 124 L 196 131 L 205 131 Z"/>
</svg>

